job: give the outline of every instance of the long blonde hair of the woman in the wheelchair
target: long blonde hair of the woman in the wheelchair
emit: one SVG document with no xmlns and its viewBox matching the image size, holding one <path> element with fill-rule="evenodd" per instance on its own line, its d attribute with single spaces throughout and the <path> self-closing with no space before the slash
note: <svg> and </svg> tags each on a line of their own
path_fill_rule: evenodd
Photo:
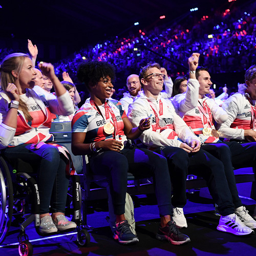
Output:
<svg viewBox="0 0 256 256">
<path fill-rule="evenodd" d="M 12 53 L 7 55 L 2 61 L 0 72 L 1 72 L 1 88 L 6 92 L 6 88 L 9 83 L 16 82 L 17 78 L 13 76 L 12 71 L 15 71 L 18 75 L 22 71 L 23 63 L 25 58 L 30 58 L 29 55 L 24 53 Z M 27 104 L 19 99 L 19 110 L 23 111 L 25 118 L 28 121 L 32 121 L 33 118 L 29 114 Z"/>
</svg>

